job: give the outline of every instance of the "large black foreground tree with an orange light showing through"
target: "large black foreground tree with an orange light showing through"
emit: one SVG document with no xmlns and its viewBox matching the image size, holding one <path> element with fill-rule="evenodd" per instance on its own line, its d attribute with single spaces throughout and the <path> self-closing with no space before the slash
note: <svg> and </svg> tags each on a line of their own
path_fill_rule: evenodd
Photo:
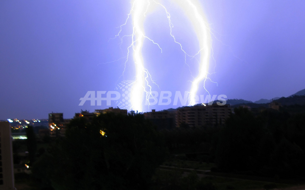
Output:
<svg viewBox="0 0 305 190">
<path fill-rule="evenodd" d="M 39 157 L 33 174 L 42 189 L 142 190 L 165 152 L 162 137 L 142 113 L 81 117 Z"/>
</svg>

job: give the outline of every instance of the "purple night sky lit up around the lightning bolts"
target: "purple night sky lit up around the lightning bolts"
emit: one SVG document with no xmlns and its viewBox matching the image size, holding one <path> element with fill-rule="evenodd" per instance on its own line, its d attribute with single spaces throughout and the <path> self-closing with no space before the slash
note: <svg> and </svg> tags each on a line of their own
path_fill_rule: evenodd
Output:
<svg viewBox="0 0 305 190">
<path fill-rule="evenodd" d="M 254 102 L 305 88 L 305 1 L 200 2 L 214 34 L 215 61 L 210 59 L 209 72 L 215 73 L 209 77 L 218 86 L 206 82 L 211 95 Z M 198 47 L 191 25 L 174 4 L 167 4 L 173 34 L 194 55 Z M 121 81 L 133 80 L 132 55 L 121 77 L 131 39 L 124 37 L 122 44 L 119 38 L 111 39 L 130 8 L 127 0 L 1 1 L 0 120 L 42 119 L 51 112 L 72 118 L 81 109 L 117 107 L 114 101 L 111 106 L 105 101 L 102 106 L 79 103 L 87 91 L 114 91 Z M 184 53 L 170 37 L 166 13 L 159 8 L 145 20 L 146 35 L 163 50 L 149 41 L 143 46 L 145 67 L 159 85 L 152 88 L 173 94 L 188 91 L 192 78 Z M 123 35 L 130 34 L 131 20 L 122 29 Z M 196 72 L 198 63 L 187 59 Z M 207 95 L 202 85 L 198 94 Z"/>
</svg>

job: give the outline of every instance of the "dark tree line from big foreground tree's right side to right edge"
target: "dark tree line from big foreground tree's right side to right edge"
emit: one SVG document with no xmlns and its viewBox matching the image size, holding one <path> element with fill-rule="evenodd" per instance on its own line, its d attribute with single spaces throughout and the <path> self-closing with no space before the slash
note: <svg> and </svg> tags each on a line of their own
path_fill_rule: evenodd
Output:
<svg viewBox="0 0 305 190">
<path fill-rule="evenodd" d="M 197 152 L 195 160 L 215 162 L 221 171 L 265 177 L 305 176 L 304 112 L 266 109 L 254 114 L 240 107 L 224 126 L 162 133 L 171 152 Z"/>
</svg>

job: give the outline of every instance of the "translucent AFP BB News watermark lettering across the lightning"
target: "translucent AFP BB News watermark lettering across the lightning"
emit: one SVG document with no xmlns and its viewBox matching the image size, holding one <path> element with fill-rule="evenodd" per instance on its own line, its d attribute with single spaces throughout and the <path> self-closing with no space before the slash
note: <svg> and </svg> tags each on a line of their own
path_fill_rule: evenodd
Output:
<svg viewBox="0 0 305 190">
<path fill-rule="evenodd" d="M 183 95 L 182 95 L 183 94 Z M 227 96 L 221 95 L 196 95 L 195 104 L 202 102 L 209 102 L 212 105 L 217 100 L 217 105 L 223 106 L 226 104 Z M 81 102 L 79 106 L 83 106 L 85 102 L 89 101 L 91 106 L 102 106 L 102 102 L 106 102 L 107 106 L 115 103 L 121 109 L 131 108 L 131 89 L 128 87 L 121 91 L 87 91 L 83 98 L 79 99 Z M 145 106 L 188 106 L 189 105 L 189 92 L 188 91 L 151 91 L 146 98 L 143 98 Z"/>
</svg>

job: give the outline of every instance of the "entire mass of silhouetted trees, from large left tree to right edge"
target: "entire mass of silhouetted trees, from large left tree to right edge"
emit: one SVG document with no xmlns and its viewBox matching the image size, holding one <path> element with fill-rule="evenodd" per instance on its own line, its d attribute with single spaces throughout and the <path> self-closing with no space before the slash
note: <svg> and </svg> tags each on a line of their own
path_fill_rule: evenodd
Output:
<svg viewBox="0 0 305 190">
<path fill-rule="evenodd" d="M 81 117 L 70 122 L 65 138 L 39 153 L 32 171 L 40 189 L 149 189 L 166 149 L 186 153 L 188 160 L 215 162 L 219 171 L 302 177 L 305 113 L 240 107 L 219 126 L 185 124 L 159 132 L 135 112 Z"/>
</svg>

